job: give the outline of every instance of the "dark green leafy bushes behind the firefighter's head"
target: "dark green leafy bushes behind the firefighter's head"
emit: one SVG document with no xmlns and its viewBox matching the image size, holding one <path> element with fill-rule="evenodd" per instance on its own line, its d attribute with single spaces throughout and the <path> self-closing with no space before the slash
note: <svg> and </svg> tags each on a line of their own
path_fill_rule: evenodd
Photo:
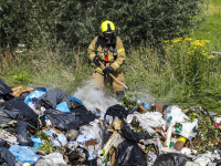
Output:
<svg viewBox="0 0 221 166">
<path fill-rule="evenodd" d="M 182 37 L 201 21 L 202 0 L 86 0 L 25 1 L 6 0 L 1 6 L 1 45 L 33 41 L 50 43 L 52 51 L 60 41 L 70 49 L 87 46 L 98 34 L 99 25 L 112 20 L 126 45 Z M 35 40 L 33 40 L 35 39 Z"/>
</svg>

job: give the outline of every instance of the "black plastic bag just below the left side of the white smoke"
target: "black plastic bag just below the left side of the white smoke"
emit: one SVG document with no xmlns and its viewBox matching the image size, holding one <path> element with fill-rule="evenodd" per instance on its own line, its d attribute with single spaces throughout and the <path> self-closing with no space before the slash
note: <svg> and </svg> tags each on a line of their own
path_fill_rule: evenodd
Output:
<svg viewBox="0 0 221 166">
<path fill-rule="evenodd" d="M 96 116 L 92 112 L 88 112 L 87 110 L 74 108 L 70 111 L 80 116 L 80 126 L 86 125 L 96 118 Z"/>
</svg>

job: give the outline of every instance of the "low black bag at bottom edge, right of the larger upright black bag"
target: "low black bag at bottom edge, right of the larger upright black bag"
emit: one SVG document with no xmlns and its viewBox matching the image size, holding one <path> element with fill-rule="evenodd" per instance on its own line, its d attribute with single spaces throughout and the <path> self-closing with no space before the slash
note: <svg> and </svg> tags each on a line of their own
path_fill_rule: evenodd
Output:
<svg viewBox="0 0 221 166">
<path fill-rule="evenodd" d="M 192 162 L 183 154 L 168 153 L 157 156 L 154 166 L 185 166 L 187 162 Z"/>
</svg>

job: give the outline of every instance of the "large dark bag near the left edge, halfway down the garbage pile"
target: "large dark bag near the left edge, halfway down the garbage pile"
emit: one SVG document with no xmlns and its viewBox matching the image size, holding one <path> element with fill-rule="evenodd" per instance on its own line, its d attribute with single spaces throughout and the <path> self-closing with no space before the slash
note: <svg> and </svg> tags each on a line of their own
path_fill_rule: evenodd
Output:
<svg viewBox="0 0 221 166">
<path fill-rule="evenodd" d="M 38 115 L 23 101 L 7 101 L 4 102 L 2 110 L 7 110 L 7 112 L 4 111 L 4 113 L 8 113 L 8 114 L 11 114 L 10 112 L 13 112 L 15 113 L 15 115 L 18 115 L 19 113 L 20 115 L 23 116 L 23 121 L 30 123 L 33 126 L 36 126 Z"/>
</svg>

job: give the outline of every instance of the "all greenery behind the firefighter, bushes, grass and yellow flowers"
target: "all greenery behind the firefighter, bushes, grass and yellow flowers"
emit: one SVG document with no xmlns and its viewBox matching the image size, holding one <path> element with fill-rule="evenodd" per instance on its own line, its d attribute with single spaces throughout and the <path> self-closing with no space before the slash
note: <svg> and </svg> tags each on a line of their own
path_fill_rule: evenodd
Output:
<svg viewBox="0 0 221 166">
<path fill-rule="evenodd" d="M 220 54 L 212 52 L 220 52 L 220 7 L 218 0 L 1 0 L 0 75 L 10 86 L 73 95 L 91 80 L 86 49 L 109 19 L 124 40 L 125 80 L 137 98 L 219 112 Z"/>
</svg>

